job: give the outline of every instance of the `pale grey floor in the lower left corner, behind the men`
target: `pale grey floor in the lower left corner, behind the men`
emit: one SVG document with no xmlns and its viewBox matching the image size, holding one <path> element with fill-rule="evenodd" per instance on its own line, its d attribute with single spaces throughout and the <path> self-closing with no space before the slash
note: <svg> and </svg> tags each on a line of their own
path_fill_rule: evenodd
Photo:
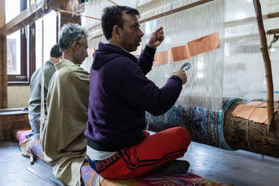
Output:
<svg viewBox="0 0 279 186">
<path fill-rule="evenodd" d="M 29 158 L 21 155 L 17 142 L 0 141 L 0 152 L 0 185 L 63 185 L 61 181 L 54 178 L 50 165 L 40 160 L 31 165 Z M 42 178 L 31 173 L 27 168 L 31 168 Z"/>
</svg>

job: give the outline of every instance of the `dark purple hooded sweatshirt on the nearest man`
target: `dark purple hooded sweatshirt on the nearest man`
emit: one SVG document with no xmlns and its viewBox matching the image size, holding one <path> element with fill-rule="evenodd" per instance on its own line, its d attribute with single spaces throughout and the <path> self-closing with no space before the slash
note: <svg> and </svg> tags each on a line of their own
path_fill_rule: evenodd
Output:
<svg viewBox="0 0 279 186">
<path fill-rule="evenodd" d="M 146 45 L 137 59 L 119 46 L 99 43 L 90 71 L 84 132 L 94 150 L 114 152 L 137 145 L 145 137 L 145 111 L 164 114 L 179 98 L 179 77 L 169 77 L 162 88 L 146 78 L 155 52 Z"/>
</svg>

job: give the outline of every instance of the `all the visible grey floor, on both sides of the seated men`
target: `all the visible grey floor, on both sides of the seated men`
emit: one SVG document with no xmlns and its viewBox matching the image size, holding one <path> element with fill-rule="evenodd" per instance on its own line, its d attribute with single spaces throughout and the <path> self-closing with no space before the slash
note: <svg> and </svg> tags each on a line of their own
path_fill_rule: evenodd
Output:
<svg viewBox="0 0 279 186">
<path fill-rule="evenodd" d="M 16 142 L 0 141 L 0 152 L 0 185 L 63 185 L 54 178 L 48 164 L 36 161 L 31 165 L 29 158 L 20 154 Z M 182 159 L 190 162 L 191 173 L 222 183 L 279 185 L 279 159 L 273 157 L 192 142 Z"/>
</svg>

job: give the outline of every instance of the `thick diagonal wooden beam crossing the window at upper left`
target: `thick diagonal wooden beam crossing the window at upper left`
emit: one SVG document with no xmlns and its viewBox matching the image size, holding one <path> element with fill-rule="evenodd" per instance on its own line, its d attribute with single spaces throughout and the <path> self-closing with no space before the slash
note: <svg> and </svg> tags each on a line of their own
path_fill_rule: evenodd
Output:
<svg viewBox="0 0 279 186">
<path fill-rule="evenodd" d="M 35 22 L 36 19 L 49 13 L 51 9 L 55 9 L 67 1 L 69 0 L 50 0 L 48 3 L 45 3 L 45 0 L 36 1 L 36 3 L 33 3 L 29 8 L 22 11 L 20 15 L 17 15 L 13 20 L 2 26 L 0 28 L 0 35 L 8 36 L 11 33 L 24 28 L 28 24 Z"/>
</svg>

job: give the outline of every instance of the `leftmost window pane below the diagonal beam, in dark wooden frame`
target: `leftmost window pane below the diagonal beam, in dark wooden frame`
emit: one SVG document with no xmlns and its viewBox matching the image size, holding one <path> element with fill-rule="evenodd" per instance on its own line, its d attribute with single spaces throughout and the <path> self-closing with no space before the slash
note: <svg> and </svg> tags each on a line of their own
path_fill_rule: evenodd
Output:
<svg viewBox="0 0 279 186">
<path fill-rule="evenodd" d="M 20 75 L 20 30 L 7 36 L 8 75 Z"/>
</svg>

